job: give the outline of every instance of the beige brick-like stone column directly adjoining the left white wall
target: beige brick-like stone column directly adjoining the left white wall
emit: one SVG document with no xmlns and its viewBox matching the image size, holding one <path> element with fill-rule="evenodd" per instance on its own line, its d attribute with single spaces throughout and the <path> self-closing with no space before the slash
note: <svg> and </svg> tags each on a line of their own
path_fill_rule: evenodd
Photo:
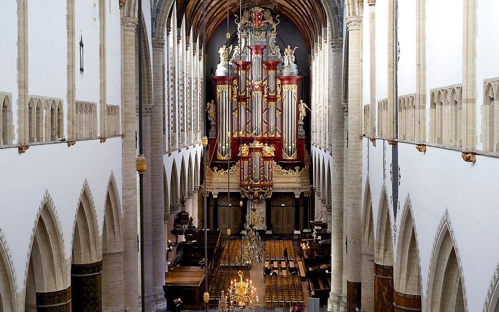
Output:
<svg viewBox="0 0 499 312">
<path fill-rule="evenodd" d="M 137 253 L 137 171 L 135 170 L 135 31 L 138 20 L 121 17 L 122 35 L 122 185 L 123 185 L 123 245 L 124 245 L 124 306 L 139 311 L 139 259 Z"/>
</svg>

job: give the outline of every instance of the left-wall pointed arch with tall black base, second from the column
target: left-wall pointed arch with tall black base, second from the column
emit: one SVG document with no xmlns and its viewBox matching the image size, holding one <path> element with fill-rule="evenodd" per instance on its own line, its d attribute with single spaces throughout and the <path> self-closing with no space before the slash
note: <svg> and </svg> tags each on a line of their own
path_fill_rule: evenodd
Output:
<svg viewBox="0 0 499 312">
<path fill-rule="evenodd" d="M 102 310 L 102 254 L 95 206 L 85 180 L 73 228 L 71 310 Z"/>
</svg>

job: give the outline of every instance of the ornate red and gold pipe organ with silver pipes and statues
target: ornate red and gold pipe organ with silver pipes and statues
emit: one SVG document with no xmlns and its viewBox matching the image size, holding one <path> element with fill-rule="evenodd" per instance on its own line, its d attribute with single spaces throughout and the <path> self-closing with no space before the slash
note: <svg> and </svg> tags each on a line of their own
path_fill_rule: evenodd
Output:
<svg viewBox="0 0 499 312">
<path fill-rule="evenodd" d="M 224 168 L 239 161 L 240 187 L 251 199 L 271 194 L 274 163 L 304 166 L 296 48 L 288 45 L 281 54 L 275 44 L 278 23 L 258 6 L 237 19 L 237 45 L 220 48 L 215 102 L 208 103 L 212 163 Z"/>
</svg>

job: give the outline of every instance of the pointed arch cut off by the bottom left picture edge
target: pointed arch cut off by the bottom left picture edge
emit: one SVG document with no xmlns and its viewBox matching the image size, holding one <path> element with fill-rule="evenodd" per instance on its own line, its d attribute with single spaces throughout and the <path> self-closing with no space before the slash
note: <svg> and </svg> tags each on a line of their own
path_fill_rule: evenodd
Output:
<svg viewBox="0 0 499 312">
<path fill-rule="evenodd" d="M 9 255 L 1 239 L 0 232 L 0 312 L 16 312 L 17 301 L 15 295 L 14 272 L 10 265 Z"/>
</svg>

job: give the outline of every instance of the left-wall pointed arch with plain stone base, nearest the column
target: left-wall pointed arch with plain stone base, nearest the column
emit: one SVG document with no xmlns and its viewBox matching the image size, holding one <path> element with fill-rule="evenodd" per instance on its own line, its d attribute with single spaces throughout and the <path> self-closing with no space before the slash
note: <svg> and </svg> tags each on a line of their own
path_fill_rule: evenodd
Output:
<svg viewBox="0 0 499 312">
<path fill-rule="evenodd" d="M 123 311 L 123 232 L 114 175 L 106 191 L 102 229 L 102 311 Z"/>
</svg>

